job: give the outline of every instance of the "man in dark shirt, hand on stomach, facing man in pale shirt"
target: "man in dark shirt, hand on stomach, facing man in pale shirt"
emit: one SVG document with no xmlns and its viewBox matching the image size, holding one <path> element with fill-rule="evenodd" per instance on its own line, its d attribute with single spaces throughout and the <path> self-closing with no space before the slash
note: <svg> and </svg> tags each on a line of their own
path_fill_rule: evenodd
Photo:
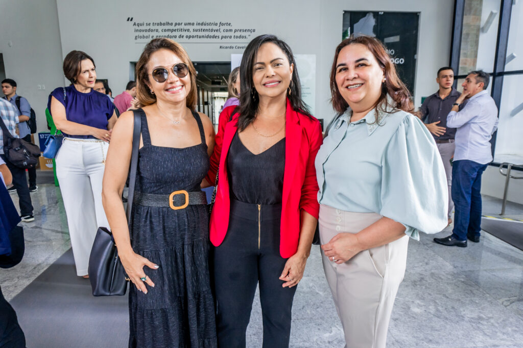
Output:
<svg viewBox="0 0 523 348">
<path fill-rule="evenodd" d="M 421 113 L 420 118 L 436 141 L 445 168 L 449 187 L 447 219 L 450 225 L 452 223 L 452 209 L 454 208 L 450 190 L 452 184 L 450 159 L 454 155 L 454 135 L 456 134 L 456 128 L 447 127 L 447 115 L 452 109 L 452 104 L 456 102 L 461 93 L 452 87 L 454 83 L 454 70 L 450 66 L 440 68 L 437 76 L 438 91 L 425 99 L 419 111 Z"/>
</svg>

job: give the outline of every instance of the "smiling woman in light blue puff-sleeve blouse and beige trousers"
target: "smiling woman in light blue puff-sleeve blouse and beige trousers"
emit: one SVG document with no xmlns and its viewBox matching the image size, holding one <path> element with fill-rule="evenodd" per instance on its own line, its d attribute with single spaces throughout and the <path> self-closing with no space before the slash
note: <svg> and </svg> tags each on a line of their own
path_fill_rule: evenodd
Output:
<svg viewBox="0 0 523 348">
<path fill-rule="evenodd" d="M 336 48 L 337 116 L 316 156 L 327 282 L 349 347 L 384 347 L 409 238 L 447 225 L 447 184 L 433 137 L 383 44 Z"/>
</svg>

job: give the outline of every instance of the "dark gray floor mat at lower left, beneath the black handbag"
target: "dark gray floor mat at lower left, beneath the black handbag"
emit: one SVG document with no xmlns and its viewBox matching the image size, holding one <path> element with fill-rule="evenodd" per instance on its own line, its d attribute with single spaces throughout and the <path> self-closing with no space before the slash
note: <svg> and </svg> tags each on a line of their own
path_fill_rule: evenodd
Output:
<svg viewBox="0 0 523 348">
<path fill-rule="evenodd" d="M 126 347 L 127 296 L 94 297 L 67 250 L 10 301 L 29 348 Z"/>
</svg>

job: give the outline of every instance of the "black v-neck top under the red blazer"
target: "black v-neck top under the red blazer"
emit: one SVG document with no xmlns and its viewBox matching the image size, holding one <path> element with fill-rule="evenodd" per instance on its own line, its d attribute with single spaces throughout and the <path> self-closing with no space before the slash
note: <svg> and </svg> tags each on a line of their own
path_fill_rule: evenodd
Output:
<svg viewBox="0 0 523 348">
<path fill-rule="evenodd" d="M 254 154 L 234 135 L 227 157 L 232 197 L 253 204 L 278 204 L 283 196 L 285 138 Z"/>
</svg>

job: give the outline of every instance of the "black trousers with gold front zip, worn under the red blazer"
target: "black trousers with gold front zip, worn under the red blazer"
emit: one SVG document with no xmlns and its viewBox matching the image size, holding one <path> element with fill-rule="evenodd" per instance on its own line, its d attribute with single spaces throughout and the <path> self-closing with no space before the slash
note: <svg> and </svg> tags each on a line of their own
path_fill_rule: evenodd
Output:
<svg viewBox="0 0 523 348">
<path fill-rule="evenodd" d="M 258 282 L 263 347 L 289 346 L 296 287 L 283 288 L 278 279 L 287 261 L 280 256 L 280 219 L 281 205 L 258 210 L 256 204 L 231 200 L 229 230 L 213 255 L 219 347 L 245 347 Z"/>
</svg>

